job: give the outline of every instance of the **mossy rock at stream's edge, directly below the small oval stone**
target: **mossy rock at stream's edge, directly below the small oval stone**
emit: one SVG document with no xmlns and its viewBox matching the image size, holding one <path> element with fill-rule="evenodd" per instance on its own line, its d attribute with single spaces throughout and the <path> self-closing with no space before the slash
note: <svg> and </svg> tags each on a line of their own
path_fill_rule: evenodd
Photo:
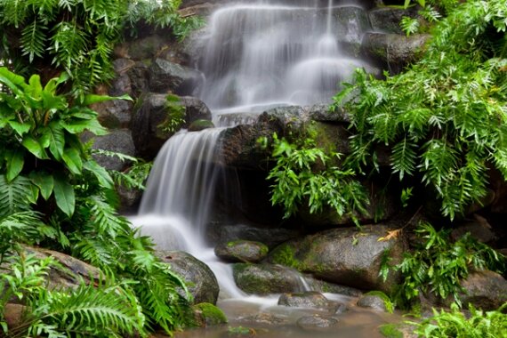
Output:
<svg viewBox="0 0 507 338">
<path fill-rule="evenodd" d="M 246 294 L 282 294 L 304 289 L 300 275 L 281 265 L 236 263 L 232 273 L 237 287 Z"/>
</svg>

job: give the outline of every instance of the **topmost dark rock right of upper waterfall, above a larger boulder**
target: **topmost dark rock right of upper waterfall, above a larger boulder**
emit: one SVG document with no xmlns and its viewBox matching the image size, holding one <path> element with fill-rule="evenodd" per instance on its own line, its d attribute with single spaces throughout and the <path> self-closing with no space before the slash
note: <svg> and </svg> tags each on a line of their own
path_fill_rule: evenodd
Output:
<svg viewBox="0 0 507 338">
<path fill-rule="evenodd" d="M 414 7 L 403 9 L 390 6 L 375 8 L 368 13 L 368 16 L 374 31 L 395 34 L 404 34 L 399 26 L 403 17 L 420 18 Z"/>
</svg>

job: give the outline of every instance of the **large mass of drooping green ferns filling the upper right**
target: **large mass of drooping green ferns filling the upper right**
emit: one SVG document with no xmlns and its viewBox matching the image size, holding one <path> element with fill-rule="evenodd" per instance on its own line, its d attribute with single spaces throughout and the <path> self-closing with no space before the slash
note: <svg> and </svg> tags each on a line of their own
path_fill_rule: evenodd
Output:
<svg viewBox="0 0 507 338">
<path fill-rule="evenodd" d="M 491 168 L 507 177 L 506 18 L 503 0 L 459 4 L 406 71 L 378 80 L 358 70 L 334 98 L 351 117 L 344 170 L 377 169 L 387 146 L 392 173 L 431 189 L 451 220 L 480 203 Z"/>
</svg>

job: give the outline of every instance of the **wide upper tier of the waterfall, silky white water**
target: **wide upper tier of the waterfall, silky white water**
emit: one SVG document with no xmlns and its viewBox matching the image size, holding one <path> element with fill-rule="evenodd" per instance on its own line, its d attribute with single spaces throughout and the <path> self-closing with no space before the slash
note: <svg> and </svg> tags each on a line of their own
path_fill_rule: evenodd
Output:
<svg viewBox="0 0 507 338">
<path fill-rule="evenodd" d="M 299 2 L 302 3 L 302 2 Z M 342 52 L 369 29 L 358 6 L 229 5 L 214 12 L 200 64 L 198 95 L 213 110 L 255 111 L 329 101 L 364 60 Z"/>
</svg>

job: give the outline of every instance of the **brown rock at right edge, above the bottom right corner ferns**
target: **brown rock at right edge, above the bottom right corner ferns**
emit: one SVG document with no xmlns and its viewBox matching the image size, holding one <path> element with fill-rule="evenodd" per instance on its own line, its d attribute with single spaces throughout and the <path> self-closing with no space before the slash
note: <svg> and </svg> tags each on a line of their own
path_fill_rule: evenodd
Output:
<svg viewBox="0 0 507 338">
<path fill-rule="evenodd" d="M 507 302 L 507 280 L 496 272 L 471 272 L 461 285 L 465 291 L 459 297 L 464 309 L 472 304 L 482 310 L 496 310 Z"/>
</svg>

